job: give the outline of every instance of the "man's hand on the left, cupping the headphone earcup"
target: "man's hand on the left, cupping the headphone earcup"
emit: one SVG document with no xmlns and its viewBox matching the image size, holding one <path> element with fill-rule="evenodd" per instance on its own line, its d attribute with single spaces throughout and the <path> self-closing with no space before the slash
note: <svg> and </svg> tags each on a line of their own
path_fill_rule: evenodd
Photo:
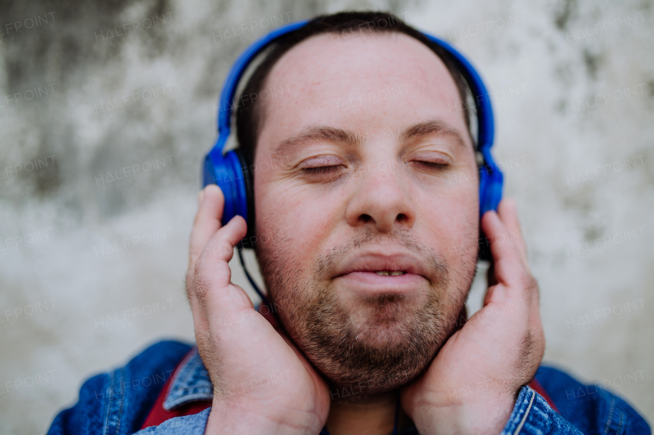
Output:
<svg viewBox="0 0 654 435">
<path fill-rule="evenodd" d="M 221 228 L 223 206 L 217 185 L 201 191 L 186 273 L 198 351 L 214 387 L 205 433 L 318 434 L 328 387 L 231 282 L 228 262 L 247 224 L 235 216 Z"/>
</svg>

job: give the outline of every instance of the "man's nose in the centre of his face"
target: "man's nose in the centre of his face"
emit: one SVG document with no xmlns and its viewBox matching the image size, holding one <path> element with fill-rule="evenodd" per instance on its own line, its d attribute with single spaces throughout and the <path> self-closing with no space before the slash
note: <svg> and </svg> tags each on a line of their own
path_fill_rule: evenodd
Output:
<svg viewBox="0 0 654 435">
<path fill-rule="evenodd" d="M 381 233 L 392 231 L 395 225 L 405 229 L 413 227 L 416 210 L 402 174 L 402 165 L 390 166 L 392 168 L 376 165 L 375 169 L 367 170 L 359 178 L 346 210 L 347 221 L 352 227 L 374 225 Z"/>
</svg>

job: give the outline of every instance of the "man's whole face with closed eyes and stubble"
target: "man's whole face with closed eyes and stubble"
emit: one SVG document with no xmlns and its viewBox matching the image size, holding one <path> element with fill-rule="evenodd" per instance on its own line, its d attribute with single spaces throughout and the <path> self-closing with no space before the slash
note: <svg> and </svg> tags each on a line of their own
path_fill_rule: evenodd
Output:
<svg viewBox="0 0 654 435">
<path fill-rule="evenodd" d="M 262 107 L 254 158 L 269 293 L 336 385 L 398 387 L 451 334 L 475 272 L 475 154 L 455 82 L 407 35 L 323 34 L 281 57 L 271 88 L 284 95 Z"/>
</svg>

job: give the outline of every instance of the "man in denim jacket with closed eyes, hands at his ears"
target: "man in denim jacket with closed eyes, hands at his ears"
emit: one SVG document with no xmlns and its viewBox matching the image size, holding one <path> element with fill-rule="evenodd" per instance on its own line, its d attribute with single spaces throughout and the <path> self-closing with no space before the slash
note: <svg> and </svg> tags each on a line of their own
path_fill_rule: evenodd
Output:
<svg viewBox="0 0 654 435">
<path fill-rule="evenodd" d="M 245 88 L 290 90 L 237 110 L 273 303 L 257 311 L 231 283 L 248 229 L 221 227 L 207 186 L 187 274 L 197 351 L 164 342 L 90 379 L 49 433 L 649 433 L 623 400 L 539 368 L 538 286 L 509 200 L 481 219 L 490 287 L 465 321 L 480 225 L 477 183 L 452 181 L 477 168 L 468 114 L 451 110 L 465 89 L 396 18 L 365 25 L 381 17 L 318 17 Z M 592 400 L 573 404 L 578 388 Z"/>
</svg>

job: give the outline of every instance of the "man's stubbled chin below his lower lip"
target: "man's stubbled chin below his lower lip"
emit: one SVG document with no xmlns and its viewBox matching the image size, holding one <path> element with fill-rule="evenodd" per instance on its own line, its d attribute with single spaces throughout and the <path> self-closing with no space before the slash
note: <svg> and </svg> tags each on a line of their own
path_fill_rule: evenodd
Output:
<svg viewBox="0 0 654 435">
<path fill-rule="evenodd" d="M 436 297 L 419 306 L 400 302 L 351 312 L 336 300 L 320 300 L 320 309 L 298 316 L 301 324 L 289 332 L 333 385 L 391 391 L 419 376 L 451 334 Z"/>
</svg>

